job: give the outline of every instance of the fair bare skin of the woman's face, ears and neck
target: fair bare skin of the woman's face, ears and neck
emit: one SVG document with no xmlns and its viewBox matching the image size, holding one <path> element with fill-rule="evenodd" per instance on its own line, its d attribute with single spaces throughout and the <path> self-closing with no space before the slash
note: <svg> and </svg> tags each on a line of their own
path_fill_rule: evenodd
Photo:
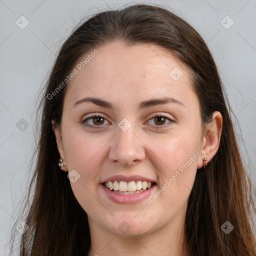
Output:
<svg viewBox="0 0 256 256">
<path fill-rule="evenodd" d="M 70 184 L 88 215 L 89 255 L 188 255 L 185 247 L 182 252 L 187 199 L 203 158 L 209 162 L 218 149 L 222 116 L 215 111 L 212 122 L 202 129 L 190 73 L 166 49 L 143 43 L 127 46 L 121 41 L 97 49 L 68 84 L 61 124 L 53 125 L 65 164 L 61 169 L 75 169 L 80 175 Z M 182 71 L 176 81 L 169 75 L 174 67 Z M 138 109 L 143 100 L 165 96 L 184 106 L 170 102 Z M 84 97 L 110 101 L 114 109 L 91 102 L 73 106 Z M 97 124 L 91 118 L 87 123 L 99 128 L 84 126 L 85 117 L 94 113 L 105 119 Z M 156 113 L 173 122 L 166 118 L 160 124 L 165 127 L 160 126 L 153 118 Z M 127 131 L 118 127 L 123 118 L 131 123 Z M 157 182 L 153 195 L 196 152 L 200 152 L 197 159 L 153 202 L 146 198 L 139 203 L 116 203 L 101 187 L 103 179 L 112 175 L 141 175 Z M 123 221 L 130 226 L 125 234 L 118 228 Z"/>
</svg>

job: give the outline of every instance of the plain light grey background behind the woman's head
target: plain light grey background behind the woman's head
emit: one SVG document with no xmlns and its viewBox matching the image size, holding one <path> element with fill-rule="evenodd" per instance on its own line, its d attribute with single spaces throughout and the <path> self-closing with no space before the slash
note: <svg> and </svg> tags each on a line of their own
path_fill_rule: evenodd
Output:
<svg viewBox="0 0 256 256">
<path fill-rule="evenodd" d="M 7 238 L 17 220 L 17 203 L 28 185 L 37 92 L 61 43 L 82 17 L 135 2 L 169 6 L 207 42 L 238 120 L 237 138 L 255 186 L 255 0 L 0 0 L 0 255 L 8 251 Z M 29 21 L 24 29 L 15 23 L 21 15 Z M 226 15 L 234 21 L 229 29 L 221 24 Z M 231 24 L 230 19 L 222 22 Z"/>
</svg>

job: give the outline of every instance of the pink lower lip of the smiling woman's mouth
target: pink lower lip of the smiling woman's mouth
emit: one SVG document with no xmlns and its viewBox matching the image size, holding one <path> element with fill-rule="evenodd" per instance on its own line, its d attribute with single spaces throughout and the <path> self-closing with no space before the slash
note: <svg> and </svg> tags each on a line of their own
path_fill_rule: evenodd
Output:
<svg viewBox="0 0 256 256">
<path fill-rule="evenodd" d="M 150 196 L 152 190 L 156 187 L 156 184 L 152 185 L 150 188 L 135 194 L 117 194 L 112 190 L 108 189 L 105 185 L 101 184 L 101 187 L 105 191 L 107 197 L 117 203 L 136 203 L 140 202 Z"/>
</svg>

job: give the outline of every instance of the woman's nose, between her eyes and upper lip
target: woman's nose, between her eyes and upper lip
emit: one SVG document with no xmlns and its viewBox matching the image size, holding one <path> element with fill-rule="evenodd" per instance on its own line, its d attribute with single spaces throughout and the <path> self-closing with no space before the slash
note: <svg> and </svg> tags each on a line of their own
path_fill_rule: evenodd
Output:
<svg viewBox="0 0 256 256">
<path fill-rule="evenodd" d="M 133 126 L 126 131 L 117 127 L 116 135 L 112 139 L 109 159 L 123 166 L 142 161 L 145 158 L 145 145 L 141 140 Z"/>
</svg>

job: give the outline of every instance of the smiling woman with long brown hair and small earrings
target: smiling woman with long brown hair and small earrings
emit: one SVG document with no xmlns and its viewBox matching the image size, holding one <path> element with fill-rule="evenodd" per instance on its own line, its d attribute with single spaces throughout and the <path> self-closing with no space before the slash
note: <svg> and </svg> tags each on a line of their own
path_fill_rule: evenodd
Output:
<svg viewBox="0 0 256 256">
<path fill-rule="evenodd" d="M 20 255 L 256 255 L 217 68 L 183 19 L 145 4 L 94 15 L 42 105 Z"/>
</svg>

